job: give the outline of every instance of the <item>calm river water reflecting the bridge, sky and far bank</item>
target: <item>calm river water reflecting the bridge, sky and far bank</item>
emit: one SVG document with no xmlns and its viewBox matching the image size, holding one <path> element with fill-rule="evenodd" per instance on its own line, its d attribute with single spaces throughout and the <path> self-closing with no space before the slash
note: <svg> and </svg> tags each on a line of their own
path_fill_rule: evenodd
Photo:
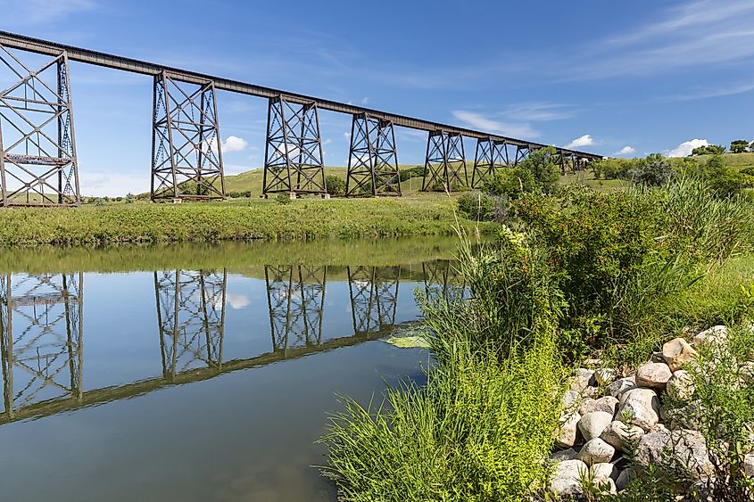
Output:
<svg viewBox="0 0 754 502">
<path fill-rule="evenodd" d="M 379 339 L 452 240 L 4 251 L 2 500 L 335 500 L 336 394 L 422 379 Z M 286 261 L 287 260 L 287 261 Z"/>
</svg>

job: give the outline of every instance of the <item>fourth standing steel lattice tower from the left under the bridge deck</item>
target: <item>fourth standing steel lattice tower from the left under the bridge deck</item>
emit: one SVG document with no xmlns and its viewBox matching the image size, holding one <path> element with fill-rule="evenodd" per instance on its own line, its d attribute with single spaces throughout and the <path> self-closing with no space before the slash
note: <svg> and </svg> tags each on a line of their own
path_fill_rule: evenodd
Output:
<svg viewBox="0 0 754 502">
<path fill-rule="evenodd" d="M 353 115 L 345 196 L 401 195 L 393 122 Z"/>
</svg>

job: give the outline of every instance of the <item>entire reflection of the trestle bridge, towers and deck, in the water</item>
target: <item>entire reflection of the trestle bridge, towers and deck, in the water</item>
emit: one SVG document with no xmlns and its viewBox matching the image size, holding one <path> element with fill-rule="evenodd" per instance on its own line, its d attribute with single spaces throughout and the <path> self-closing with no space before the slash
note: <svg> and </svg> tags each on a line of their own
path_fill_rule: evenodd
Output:
<svg viewBox="0 0 754 502">
<path fill-rule="evenodd" d="M 402 267 L 338 267 L 341 278 L 335 282 L 347 281 L 352 333 L 326 339 L 323 322 L 331 268 L 264 267 L 271 347 L 249 358 L 228 358 L 223 352 L 226 269 L 153 272 L 159 333 L 154 350 L 160 350 L 162 371 L 154 368 L 153 377 L 92 390 L 83 387 L 84 274 L 6 274 L 0 281 L 0 424 L 384 337 L 396 325 L 402 281 L 410 287 L 423 283 L 428 295 L 446 298 L 464 291 L 449 260 L 427 262 L 420 273 Z M 404 294 L 410 297 L 412 292 Z"/>
</svg>

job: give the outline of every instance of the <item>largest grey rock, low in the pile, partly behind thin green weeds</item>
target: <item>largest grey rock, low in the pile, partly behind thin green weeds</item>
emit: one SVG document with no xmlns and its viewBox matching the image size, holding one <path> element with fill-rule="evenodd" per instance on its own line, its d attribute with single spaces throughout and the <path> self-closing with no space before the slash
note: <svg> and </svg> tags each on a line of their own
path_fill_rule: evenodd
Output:
<svg viewBox="0 0 754 502">
<path fill-rule="evenodd" d="M 636 448 L 634 462 L 645 468 L 653 463 L 666 471 L 689 473 L 695 480 L 714 473 L 704 437 L 698 431 L 687 429 L 644 434 Z"/>
</svg>

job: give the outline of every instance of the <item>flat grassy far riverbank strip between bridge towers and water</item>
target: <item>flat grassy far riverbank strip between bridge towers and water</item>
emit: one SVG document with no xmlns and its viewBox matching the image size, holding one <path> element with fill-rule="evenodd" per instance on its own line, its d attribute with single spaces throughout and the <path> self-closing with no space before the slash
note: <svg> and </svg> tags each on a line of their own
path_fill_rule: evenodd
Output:
<svg viewBox="0 0 754 502">
<path fill-rule="evenodd" d="M 457 216 L 447 197 L 248 200 L 86 205 L 75 209 L 0 210 L 0 246 L 211 243 L 483 234 L 495 224 Z"/>
</svg>

